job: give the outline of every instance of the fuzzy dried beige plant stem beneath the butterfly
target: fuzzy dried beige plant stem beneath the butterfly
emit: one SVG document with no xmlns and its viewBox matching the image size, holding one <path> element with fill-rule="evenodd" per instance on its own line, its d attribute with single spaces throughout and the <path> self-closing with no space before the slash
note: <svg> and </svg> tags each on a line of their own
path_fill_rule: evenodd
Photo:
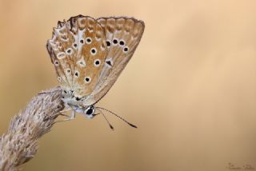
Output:
<svg viewBox="0 0 256 171">
<path fill-rule="evenodd" d="M 0 137 L 0 170 L 18 170 L 18 166 L 38 151 L 38 138 L 50 131 L 64 109 L 58 87 L 38 93 L 26 108 L 10 121 L 10 128 Z"/>
</svg>

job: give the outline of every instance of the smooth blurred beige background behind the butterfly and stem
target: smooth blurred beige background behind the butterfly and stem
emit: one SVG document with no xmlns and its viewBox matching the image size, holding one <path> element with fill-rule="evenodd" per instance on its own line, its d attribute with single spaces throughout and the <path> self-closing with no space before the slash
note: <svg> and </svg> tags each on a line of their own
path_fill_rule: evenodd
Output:
<svg viewBox="0 0 256 171">
<path fill-rule="evenodd" d="M 58 124 L 24 170 L 256 169 L 256 2 L 0 0 L 0 133 L 58 85 L 46 40 L 77 14 L 142 19 L 142 42 L 98 103 L 108 116 Z"/>
</svg>

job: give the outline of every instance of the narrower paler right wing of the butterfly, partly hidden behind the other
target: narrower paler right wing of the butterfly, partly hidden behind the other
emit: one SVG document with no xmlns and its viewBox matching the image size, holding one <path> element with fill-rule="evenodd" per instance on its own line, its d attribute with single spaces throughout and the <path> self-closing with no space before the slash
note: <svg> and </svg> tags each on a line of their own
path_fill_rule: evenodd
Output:
<svg viewBox="0 0 256 171">
<path fill-rule="evenodd" d="M 142 38 L 144 22 L 134 18 L 98 18 L 106 34 L 107 54 L 97 85 L 83 105 L 93 105 L 114 85 Z"/>
</svg>

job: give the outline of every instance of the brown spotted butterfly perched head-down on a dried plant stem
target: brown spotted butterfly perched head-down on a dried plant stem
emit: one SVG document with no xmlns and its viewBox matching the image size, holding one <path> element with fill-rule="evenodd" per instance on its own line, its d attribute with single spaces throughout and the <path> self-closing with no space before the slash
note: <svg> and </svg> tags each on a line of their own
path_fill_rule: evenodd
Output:
<svg viewBox="0 0 256 171">
<path fill-rule="evenodd" d="M 46 48 L 62 88 L 62 101 L 73 111 L 70 119 L 76 112 L 89 118 L 97 115 L 95 109 L 101 112 L 103 108 L 94 105 L 130 61 L 144 28 L 144 22 L 126 17 L 78 15 L 58 22 Z"/>
</svg>

